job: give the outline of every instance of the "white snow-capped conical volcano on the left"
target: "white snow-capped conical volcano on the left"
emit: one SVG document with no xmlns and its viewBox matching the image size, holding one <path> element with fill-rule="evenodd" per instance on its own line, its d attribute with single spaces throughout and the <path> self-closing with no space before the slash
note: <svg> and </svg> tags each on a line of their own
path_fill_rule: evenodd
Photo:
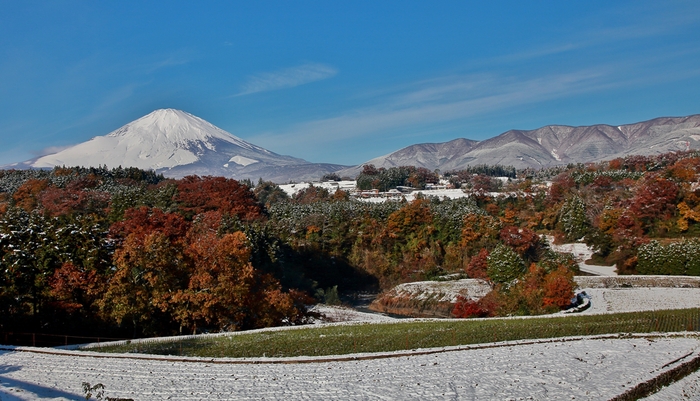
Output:
<svg viewBox="0 0 700 401">
<path fill-rule="evenodd" d="M 167 177 L 213 175 L 278 183 L 317 180 L 347 166 L 310 163 L 246 142 L 181 110 L 160 109 L 58 153 L 5 167 L 118 166 Z"/>
</svg>

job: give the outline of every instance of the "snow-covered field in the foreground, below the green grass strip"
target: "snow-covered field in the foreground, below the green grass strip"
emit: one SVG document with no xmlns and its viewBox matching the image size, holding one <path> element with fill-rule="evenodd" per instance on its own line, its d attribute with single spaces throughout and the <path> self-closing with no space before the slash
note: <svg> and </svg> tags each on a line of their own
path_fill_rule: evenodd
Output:
<svg viewBox="0 0 700 401">
<path fill-rule="evenodd" d="M 697 337 L 494 345 L 285 363 L 0 350 L 0 400 L 84 399 L 82 382 L 134 400 L 601 400 L 700 356 Z"/>
</svg>

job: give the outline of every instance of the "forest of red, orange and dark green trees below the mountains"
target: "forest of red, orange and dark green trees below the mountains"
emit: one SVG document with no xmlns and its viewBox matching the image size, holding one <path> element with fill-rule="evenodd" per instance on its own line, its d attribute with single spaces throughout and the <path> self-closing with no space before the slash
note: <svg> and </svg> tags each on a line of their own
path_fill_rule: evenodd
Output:
<svg viewBox="0 0 700 401">
<path fill-rule="evenodd" d="M 577 267 L 541 234 L 585 241 L 622 274 L 700 274 L 697 153 L 518 171 L 499 185 L 475 173 L 445 174 L 468 198 L 368 203 L 313 186 L 290 199 L 269 182 L 138 169 L 2 171 L 0 331 L 303 324 L 305 305 L 334 288 L 380 291 L 454 273 L 494 285 L 455 316 L 544 313 L 568 304 Z"/>
</svg>

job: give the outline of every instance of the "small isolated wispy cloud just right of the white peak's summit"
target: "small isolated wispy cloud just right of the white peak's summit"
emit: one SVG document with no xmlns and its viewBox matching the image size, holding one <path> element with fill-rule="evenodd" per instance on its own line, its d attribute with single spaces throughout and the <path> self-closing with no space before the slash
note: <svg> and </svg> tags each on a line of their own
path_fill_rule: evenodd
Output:
<svg viewBox="0 0 700 401">
<path fill-rule="evenodd" d="M 234 96 L 293 88 L 331 78 L 337 73 L 338 70 L 335 68 L 319 63 L 308 63 L 279 71 L 259 73 L 249 77 L 248 81 L 242 85 L 241 91 Z"/>
</svg>

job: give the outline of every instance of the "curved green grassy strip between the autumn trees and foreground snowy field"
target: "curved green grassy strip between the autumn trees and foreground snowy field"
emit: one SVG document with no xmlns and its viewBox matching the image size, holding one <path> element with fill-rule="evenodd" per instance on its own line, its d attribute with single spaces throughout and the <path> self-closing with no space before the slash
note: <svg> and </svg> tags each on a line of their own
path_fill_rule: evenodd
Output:
<svg viewBox="0 0 700 401">
<path fill-rule="evenodd" d="M 230 336 L 157 339 L 105 346 L 98 350 L 235 358 L 322 356 L 580 335 L 698 330 L 700 309 L 682 309 L 528 319 L 307 326 L 297 330 L 236 333 Z"/>
</svg>

